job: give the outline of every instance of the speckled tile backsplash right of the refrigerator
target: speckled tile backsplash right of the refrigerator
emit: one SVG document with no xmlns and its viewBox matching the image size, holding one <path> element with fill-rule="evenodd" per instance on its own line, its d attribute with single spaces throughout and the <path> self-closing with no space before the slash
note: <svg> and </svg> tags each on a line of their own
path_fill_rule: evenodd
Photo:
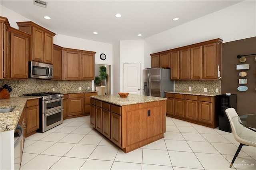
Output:
<svg viewBox="0 0 256 170">
<path fill-rule="evenodd" d="M 191 91 L 188 88 L 191 87 Z M 207 92 L 204 92 L 207 88 Z M 215 92 L 218 89 L 218 93 Z M 196 93 L 216 93 L 220 94 L 221 80 L 179 80 L 175 81 L 175 91 L 187 91 Z"/>
</svg>

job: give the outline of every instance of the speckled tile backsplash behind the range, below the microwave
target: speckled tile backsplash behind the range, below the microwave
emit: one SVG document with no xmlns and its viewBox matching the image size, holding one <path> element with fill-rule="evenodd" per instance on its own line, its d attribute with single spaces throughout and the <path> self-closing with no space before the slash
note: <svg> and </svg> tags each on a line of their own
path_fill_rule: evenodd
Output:
<svg viewBox="0 0 256 170">
<path fill-rule="evenodd" d="M 0 87 L 8 84 L 12 87 L 10 97 L 18 97 L 26 93 L 51 92 L 55 91 L 82 91 L 87 90 L 87 87 L 92 89 L 92 81 L 78 80 L 44 80 L 44 79 L 27 79 L 27 80 L 1 80 Z"/>
</svg>

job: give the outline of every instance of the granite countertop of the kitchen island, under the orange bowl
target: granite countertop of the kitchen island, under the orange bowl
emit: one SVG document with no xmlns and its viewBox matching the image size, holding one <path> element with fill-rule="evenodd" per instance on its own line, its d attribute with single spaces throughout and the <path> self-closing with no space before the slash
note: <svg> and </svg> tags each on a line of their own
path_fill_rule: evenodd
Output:
<svg viewBox="0 0 256 170">
<path fill-rule="evenodd" d="M 105 102 L 112 103 L 119 106 L 167 100 L 166 98 L 161 98 L 161 97 L 152 97 L 152 96 L 143 96 L 143 95 L 134 95 L 134 94 L 129 94 L 128 97 L 120 97 L 119 95 L 98 95 L 98 96 L 91 96 L 91 98 L 98 99 L 98 100 L 105 101 Z"/>
</svg>

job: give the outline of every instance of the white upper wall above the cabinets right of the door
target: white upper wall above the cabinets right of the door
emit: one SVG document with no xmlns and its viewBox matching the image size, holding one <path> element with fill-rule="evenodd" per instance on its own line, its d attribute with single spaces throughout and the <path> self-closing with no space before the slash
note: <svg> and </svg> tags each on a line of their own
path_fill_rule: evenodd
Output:
<svg viewBox="0 0 256 170">
<path fill-rule="evenodd" d="M 144 40 L 152 53 L 156 53 L 216 38 L 221 38 L 223 42 L 231 42 L 255 36 L 256 1 L 254 0 L 240 2 Z"/>
</svg>

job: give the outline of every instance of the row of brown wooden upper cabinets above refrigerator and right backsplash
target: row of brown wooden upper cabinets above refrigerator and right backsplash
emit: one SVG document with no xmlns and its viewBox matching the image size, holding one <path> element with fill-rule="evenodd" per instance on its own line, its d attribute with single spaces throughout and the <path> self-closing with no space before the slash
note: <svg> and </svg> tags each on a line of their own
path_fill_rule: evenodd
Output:
<svg viewBox="0 0 256 170">
<path fill-rule="evenodd" d="M 168 60 L 167 56 L 170 55 L 171 80 L 217 80 L 221 77 L 222 41 L 214 39 L 151 54 L 151 66 L 156 67 L 157 62 L 160 63 L 159 67 L 168 66 L 164 63 Z M 159 60 L 157 60 L 157 56 L 159 56 Z"/>
</svg>

